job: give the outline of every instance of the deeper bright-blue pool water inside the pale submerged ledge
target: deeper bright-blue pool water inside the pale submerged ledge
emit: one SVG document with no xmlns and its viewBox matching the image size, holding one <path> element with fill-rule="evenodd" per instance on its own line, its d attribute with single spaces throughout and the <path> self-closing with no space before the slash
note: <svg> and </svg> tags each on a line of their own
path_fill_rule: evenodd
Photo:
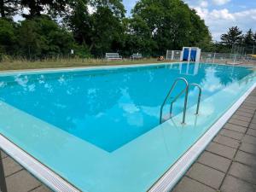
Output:
<svg viewBox="0 0 256 192">
<path fill-rule="evenodd" d="M 206 99 L 250 73 L 244 67 L 181 63 L 16 75 L 0 78 L 0 94 L 15 108 L 111 152 L 158 125 L 160 105 L 175 79 L 201 84 Z M 189 91 L 189 106 L 196 91 Z M 174 113 L 181 110 L 180 100 Z"/>
</svg>

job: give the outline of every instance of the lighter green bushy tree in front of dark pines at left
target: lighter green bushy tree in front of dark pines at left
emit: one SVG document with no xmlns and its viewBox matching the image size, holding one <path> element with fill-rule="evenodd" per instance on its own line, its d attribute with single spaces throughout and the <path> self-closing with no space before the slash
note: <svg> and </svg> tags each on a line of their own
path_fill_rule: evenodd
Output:
<svg viewBox="0 0 256 192">
<path fill-rule="evenodd" d="M 46 15 L 21 21 L 18 35 L 20 54 L 30 59 L 67 55 L 74 46 L 72 34 Z"/>
</svg>

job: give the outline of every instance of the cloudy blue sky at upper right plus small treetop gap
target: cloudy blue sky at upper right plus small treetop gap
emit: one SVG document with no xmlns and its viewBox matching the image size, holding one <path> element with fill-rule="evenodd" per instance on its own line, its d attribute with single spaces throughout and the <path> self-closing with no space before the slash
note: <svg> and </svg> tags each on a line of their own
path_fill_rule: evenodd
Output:
<svg viewBox="0 0 256 192">
<path fill-rule="evenodd" d="M 127 15 L 137 0 L 123 0 Z M 190 8 L 205 20 L 212 33 L 213 40 L 218 41 L 220 35 L 229 27 L 238 26 L 243 32 L 249 28 L 256 32 L 256 0 L 184 0 Z"/>
</svg>

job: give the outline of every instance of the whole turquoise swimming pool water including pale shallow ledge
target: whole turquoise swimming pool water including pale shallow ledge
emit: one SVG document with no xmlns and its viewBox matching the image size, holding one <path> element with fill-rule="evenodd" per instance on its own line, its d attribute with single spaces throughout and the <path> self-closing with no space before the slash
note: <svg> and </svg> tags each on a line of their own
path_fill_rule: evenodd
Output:
<svg viewBox="0 0 256 192">
<path fill-rule="evenodd" d="M 200 84 L 159 125 L 175 79 Z M 256 82 L 250 67 L 175 63 L 0 77 L 4 137 L 83 191 L 149 189 Z M 177 86 L 176 95 L 183 84 Z M 168 112 L 165 108 L 164 114 Z"/>
</svg>

